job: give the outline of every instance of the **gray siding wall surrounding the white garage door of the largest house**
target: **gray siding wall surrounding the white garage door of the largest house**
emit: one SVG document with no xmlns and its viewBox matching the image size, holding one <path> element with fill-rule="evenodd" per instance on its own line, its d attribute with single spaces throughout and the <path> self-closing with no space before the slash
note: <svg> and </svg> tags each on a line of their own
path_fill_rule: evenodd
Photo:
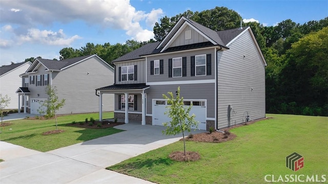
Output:
<svg viewBox="0 0 328 184">
<path fill-rule="evenodd" d="M 214 118 L 215 115 L 215 84 L 182 84 L 182 85 L 152 85 L 145 92 L 147 93 L 147 114 L 152 113 L 153 99 L 163 99 L 163 94 L 167 95 L 175 91 L 180 86 L 180 96 L 183 99 L 207 100 L 207 118 Z"/>
</svg>

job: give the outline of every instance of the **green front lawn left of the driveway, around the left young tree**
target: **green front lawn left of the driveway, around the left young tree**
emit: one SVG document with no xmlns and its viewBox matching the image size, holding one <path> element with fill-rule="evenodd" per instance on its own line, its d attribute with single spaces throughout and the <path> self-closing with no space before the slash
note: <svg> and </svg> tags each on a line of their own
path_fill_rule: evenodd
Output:
<svg viewBox="0 0 328 184">
<path fill-rule="evenodd" d="M 98 137 L 114 134 L 123 130 L 115 128 L 90 129 L 66 126 L 75 122 L 84 122 L 86 118 L 98 119 L 98 113 L 72 114 L 57 117 L 58 129 L 65 130 L 63 133 L 42 135 L 43 132 L 55 130 L 55 120 L 14 120 L 11 125 L 0 127 L 0 140 L 15 145 L 38 151 L 50 151 L 57 148 L 89 141 Z M 103 119 L 113 118 L 113 112 L 104 112 Z M 6 121 L 5 123 L 9 123 Z M 12 130 L 9 130 L 9 129 Z"/>
</svg>

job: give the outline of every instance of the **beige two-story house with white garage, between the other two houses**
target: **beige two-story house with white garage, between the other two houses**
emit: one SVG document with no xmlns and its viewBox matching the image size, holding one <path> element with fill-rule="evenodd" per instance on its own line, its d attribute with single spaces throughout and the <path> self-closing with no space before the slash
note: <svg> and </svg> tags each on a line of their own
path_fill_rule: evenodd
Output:
<svg viewBox="0 0 328 184">
<path fill-rule="evenodd" d="M 59 100 L 66 100 L 57 114 L 97 112 L 99 103 L 95 88 L 114 83 L 114 68 L 97 55 L 60 61 L 36 58 L 20 76 L 22 87 L 16 93 L 22 98 L 24 112 L 38 114 L 40 102 L 48 99 L 47 85 L 56 87 Z M 113 111 L 114 95 L 104 96 L 101 105 L 104 111 Z"/>
</svg>

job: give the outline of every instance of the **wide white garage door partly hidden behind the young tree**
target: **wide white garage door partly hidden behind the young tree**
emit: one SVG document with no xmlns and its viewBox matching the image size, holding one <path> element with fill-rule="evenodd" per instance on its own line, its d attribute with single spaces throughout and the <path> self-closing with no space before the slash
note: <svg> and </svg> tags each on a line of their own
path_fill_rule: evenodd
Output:
<svg viewBox="0 0 328 184">
<path fill-rule="evenodd" d="M 198 129 L 206 130 L 206 101 L 205 100 L 183 100 L 186 106 L 191 103 L 193 107 L 190 110 L 190 114 L 195 114 L 195 120 L 199 122 Z M 153 125 L 163 125 L 165 122 L 170 122 L 171 119 L 168 114 L 164 114 L 167 110 L 166 100 L 153 100 Z M 193 127 L 195 128 L 195 127 Z"/>
</svg>

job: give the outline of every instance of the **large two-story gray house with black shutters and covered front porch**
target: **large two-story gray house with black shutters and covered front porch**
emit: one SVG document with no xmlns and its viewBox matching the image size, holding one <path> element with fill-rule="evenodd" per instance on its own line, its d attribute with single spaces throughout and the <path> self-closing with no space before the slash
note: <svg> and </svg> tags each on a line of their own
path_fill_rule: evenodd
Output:
<svg viewBox="0 0 328 184">
<path fill-rule="evenodd" d="M 181 17 L 161 42 L 113 63 L 115 84 L 96 90 L 100 102 L 103 94 L 115 94 L 115 117 L 126 123 L 169 122 L 162 94 L 178 86 L 185 104 L 193 104 L 200 129 L 265 117 L 267 63 L 250 27 L 215 32 Z"/>
</svg>

